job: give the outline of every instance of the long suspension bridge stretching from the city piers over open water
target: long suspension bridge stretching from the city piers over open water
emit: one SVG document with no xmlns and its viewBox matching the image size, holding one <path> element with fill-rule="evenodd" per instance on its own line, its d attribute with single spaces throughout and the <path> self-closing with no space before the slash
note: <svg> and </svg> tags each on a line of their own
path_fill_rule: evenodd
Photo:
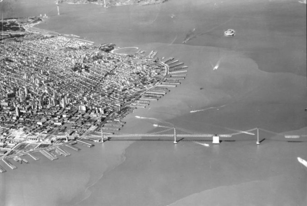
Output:
<svg viewBox="0 0 307 206">
<path fill-rule="evenodd" d="M 264 140 L 269 141 L 284 141 L 284 142 L 307 142 L 307 135 L 291 135 L 286 133 L 277 133 L 273 131 L 269 131 L 262 128 L 252 128 L 245 131 L 234 130 L 234 133 L 229 134 L 204 134 L 204 133 L 196 133 L 187 129 L 177 128 L 177 127 L 167 127 L 161 125 L 154 125 L 156 127 L 166 128 L 162 131 L 146 133 L 146 134 L 127 134 L 116 132 L 115 134 L 104 133 L 103 128 L 101 128 L 101 132 L 94 132 L 90 135 L 91 138 L 101 138 L 101 141 L 104 142 L 106 140 L 109 141 L 173 141 L 173 143 L 178 143 L 179 141 L 212 141 L 213 144 L 219 144 L 222 141 L 226 142 L 235 142 L 235 141 L 255 141 L 256 144 L 260 144 Z M 177 133 L 180 131 L 184 134 Z M 253 133 L 255 131 L 255 133 Z M 269 135 L 265 135 L 266 138 L 261 137 L 259 139 L 259 133 L 269 133 Z M 170 132 L 172 132 L 170 134 Z M 247 139 L 234 138 L 235 135 L 245 134 L 248 135 Z M 251 137 L 253 135 L 254 137 Z M 274 138 L 270 138 L 268 136 L 274 136 Z M 83 137 L 86 139 L 86 137 Z M 223 139 L 223 140 L 220 140 Z"/>
</svg>

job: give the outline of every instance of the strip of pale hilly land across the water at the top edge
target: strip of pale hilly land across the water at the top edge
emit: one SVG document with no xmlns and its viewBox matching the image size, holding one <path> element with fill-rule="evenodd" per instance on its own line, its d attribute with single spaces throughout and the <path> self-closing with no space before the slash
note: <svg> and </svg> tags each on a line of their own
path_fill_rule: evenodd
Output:
<svg viewBox="0 0 307 206">
<path fill-rule="evenodd" d="M 163 2 L 167 2 L 168 0 L 106 0 L 106 6 L 120 6 L 120 5 L 128 5 L 128 4 L 140 4 L 140 5 L 148 5 L 148 4 L 160 4 Z M 68 3 L 68 4 L 88 4 L 95 3 L 99 5 L 104 5 L 104 0 L 60 0 L 60 3 Z"/>
</svg>

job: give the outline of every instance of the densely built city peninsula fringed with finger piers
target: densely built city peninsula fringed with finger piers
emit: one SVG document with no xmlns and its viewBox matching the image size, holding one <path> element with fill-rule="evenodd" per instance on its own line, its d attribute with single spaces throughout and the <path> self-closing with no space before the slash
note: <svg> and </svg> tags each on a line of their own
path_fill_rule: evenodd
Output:
<svg viewBox="0 0 307 206">
<path fill-rule="evenodd" d="M 5 19 L 0 38 L 0 172 L 3 165 L 70 155 L 119 131 L 123 118 L 185 78 L 173 57 L 116 54 L 115 44 L 33 28 L 40 17 Z M 2 166 L 1 166 L 2 165 Z"/>
</svg>

